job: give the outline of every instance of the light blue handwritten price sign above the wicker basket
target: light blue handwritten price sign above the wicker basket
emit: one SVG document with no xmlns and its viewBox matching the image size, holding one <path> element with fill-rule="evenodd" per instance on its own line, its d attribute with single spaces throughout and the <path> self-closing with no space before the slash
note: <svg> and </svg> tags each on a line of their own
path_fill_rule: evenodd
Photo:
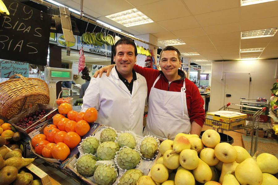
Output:
<svg viewBox="0 0 278 185">
<path fill-rule="evenodd" d="M 9 60 L 1 61 L 1 78 L 10 78 L 14 74 L 21 74 L 29 77 L 29 64 L 24 62 L 15 62 Z"/>
</svg>

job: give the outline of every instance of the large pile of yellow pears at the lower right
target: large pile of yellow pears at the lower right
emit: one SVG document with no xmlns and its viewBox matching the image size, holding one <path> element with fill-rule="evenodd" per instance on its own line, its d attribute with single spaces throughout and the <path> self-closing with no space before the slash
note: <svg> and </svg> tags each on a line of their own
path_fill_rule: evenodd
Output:
<svg viewBox="0 0 278 185">
<path fill-rule="evenodd" d="M 206 147 L 204 147 L 206 146 Z M 253 157 L 241 146 L 220 142 L 215 130 L 196 134 L 179 133 L 164 140 L 163 155 L 150 170 L 150 177 L 137 185 L 278 185 L 278 159 L 256 152 Z"/>
</svg>

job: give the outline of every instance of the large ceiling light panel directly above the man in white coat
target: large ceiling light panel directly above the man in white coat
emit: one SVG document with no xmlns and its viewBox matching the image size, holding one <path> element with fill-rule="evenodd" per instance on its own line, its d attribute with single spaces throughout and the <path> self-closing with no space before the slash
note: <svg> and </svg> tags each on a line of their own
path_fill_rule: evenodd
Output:
<svg viewBox="0 0 278 185">
<path fill-rule="evenodd" d="M 106 16 L 108 19 L 111 19 L 125 27 L 137 26 L 141 24 L 153 23 L 154 21 L 143 14 L 141 11 L 136 8 L 122 11 L 116 14 L 111 14 Z"/>
</svg>

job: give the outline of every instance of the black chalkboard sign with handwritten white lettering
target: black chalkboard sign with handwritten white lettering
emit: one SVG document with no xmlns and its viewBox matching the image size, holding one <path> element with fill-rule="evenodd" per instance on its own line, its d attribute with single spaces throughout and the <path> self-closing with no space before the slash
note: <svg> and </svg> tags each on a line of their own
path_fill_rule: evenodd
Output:
<svg viewBox="0 0 278 185">
<path fill-rule="evenodd" d="M 51 16 L 15 0 L 0 16 L 0 59 L 46 65 Z"/>
</svg>

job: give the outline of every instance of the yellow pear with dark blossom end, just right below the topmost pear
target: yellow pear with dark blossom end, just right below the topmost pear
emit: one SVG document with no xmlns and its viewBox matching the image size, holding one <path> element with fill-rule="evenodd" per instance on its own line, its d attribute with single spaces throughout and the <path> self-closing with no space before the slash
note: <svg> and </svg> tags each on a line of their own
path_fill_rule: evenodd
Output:
<svg viewBox="0 0 278 185">
<path fill-rule="evenodd" d="M 237 158 L 237 150 L 229 143 L 222 142 L 214 148 L 215 156 L 222 162 L 233 162 Z"/>
</svg>

